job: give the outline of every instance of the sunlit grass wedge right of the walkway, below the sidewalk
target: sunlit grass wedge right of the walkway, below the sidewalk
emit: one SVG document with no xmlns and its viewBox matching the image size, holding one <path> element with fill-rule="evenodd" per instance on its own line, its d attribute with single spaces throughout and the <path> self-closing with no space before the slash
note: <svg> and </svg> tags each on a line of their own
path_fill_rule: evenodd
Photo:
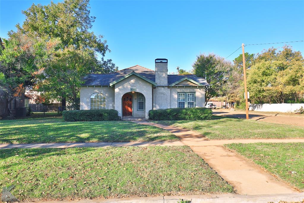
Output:
<svg viewBox="0 0 304 203">
<path fill-rule="evenodd" d="M 304 191 L 304 143 L 227 144 L 225 147 Z"/>
</svg>

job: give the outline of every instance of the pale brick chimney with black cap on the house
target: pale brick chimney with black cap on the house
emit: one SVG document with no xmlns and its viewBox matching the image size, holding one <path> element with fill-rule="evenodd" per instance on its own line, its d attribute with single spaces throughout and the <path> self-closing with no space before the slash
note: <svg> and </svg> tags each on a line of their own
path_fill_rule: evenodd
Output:
<svg viewBox="0 0 304 203">
<path fill-rule="evenodd" d="M 155 59 L 155 83 L 159 86 L 168 85 L 168 59 Z"/>
</svg>

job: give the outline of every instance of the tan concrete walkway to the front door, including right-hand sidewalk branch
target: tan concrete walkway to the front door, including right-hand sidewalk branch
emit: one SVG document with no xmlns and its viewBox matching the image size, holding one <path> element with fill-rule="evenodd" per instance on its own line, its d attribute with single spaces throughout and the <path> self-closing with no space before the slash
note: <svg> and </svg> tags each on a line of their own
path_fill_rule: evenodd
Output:
<svg viewBox="0 0 304 203">
<path fill-rule="evenodd" d="M 215 140 L 209 141 L 193 131 L 174 126 L 165 126 L 145 121 L 134 121 L 138 124 L 156 126 L 170 131 L 181 141 L 188 145 L 192 151 L 202 157 L 220 176 L 230 183 L 239 194 L 282 194 L 295 193 L 297 190 L 282 183 L 265 172 L 254 163 L 244 160 L 236 153 L 228 151 L 221 146 L 228 143 L 253 142 L 304 142 L 304 139 L 250 139 L 250 140 Z M 209 144 L 210 143 L 210 144 Z"/>
</svg>

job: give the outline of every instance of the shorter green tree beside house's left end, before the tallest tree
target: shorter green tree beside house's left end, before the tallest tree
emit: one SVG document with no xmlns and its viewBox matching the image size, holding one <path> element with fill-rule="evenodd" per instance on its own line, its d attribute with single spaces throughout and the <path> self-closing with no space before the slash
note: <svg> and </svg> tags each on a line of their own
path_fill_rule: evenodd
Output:
<svg viewBox="0 0 304 203">
<path fill-rule="evenodd" d="M 90 72 L 92 66 L 86 52 L 72 48 L 58 51 L 41 71 L 37 90 L 53 98 L 67 98 L 72 109 L 79 109 L 81 78 Z"/>
</svg>

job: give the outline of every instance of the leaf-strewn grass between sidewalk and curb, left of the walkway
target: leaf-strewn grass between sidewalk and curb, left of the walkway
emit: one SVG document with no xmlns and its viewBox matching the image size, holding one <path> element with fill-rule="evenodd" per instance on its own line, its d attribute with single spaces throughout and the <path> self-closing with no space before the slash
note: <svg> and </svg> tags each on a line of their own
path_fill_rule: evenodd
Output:
<svg viewBox="0 0 304 203">
<path fill-rule="evenodd" d="M 186 146 L 0 150 L 0 187 L 21 201 L 232 193 Z"/>
</svg>

